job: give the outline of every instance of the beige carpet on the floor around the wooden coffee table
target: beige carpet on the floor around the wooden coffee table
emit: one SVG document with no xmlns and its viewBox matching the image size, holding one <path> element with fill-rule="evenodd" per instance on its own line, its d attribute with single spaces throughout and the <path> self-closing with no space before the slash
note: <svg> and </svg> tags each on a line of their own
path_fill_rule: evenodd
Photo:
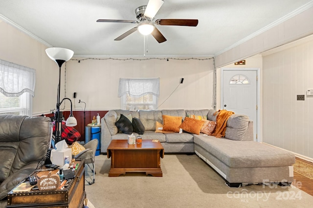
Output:
<svg viewBox="0 0 313 208">
<path fill-rule="evenodd" d="M 126 173 L 108 177 L 111 159 L 96 156 L 96 180 L 86 185 L 95 208 L 311 207 L 313 196 L 289 188 L 251 185 L 229 188 L 197 155 L 165 154 L 163 177 Z"/>
</svg>

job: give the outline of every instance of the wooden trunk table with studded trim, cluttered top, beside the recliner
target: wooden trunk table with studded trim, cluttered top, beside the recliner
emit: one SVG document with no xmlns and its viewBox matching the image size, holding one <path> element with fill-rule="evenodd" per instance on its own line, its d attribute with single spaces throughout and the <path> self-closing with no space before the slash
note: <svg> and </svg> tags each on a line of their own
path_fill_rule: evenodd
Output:
<svg viewBox="0 0 313 208">
<path fill-rule="evenodd" d="M 75 177 L 68 183 L 67 188 L 52 191 L 31 190 L 28 192 L 8 193 L 7 208 L 83 208 L 86 198 L 84 160 L 75 170 Z M 58 170 L 53 170 L 58 171 Z M 34 172 L 43 175 L 48 171 Z"/>
</svg>

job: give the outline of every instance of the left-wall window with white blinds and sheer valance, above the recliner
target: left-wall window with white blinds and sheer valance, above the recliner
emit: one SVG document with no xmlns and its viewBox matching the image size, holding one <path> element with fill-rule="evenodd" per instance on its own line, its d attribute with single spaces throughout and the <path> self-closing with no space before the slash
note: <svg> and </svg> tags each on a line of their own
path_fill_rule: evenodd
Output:
<svg viewBox="0 0 313 208">
<path fill-rule="evenodd" d="M 32 115 L 35 70 L 0 60 L 0 114 Z"/>
</svg>

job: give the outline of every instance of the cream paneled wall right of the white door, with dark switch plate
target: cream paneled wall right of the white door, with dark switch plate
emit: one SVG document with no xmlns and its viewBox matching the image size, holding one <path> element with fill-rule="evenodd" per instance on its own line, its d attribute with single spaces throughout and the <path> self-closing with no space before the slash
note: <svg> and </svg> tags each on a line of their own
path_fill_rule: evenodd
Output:
<svg viewBox="0 0 313 208">
<path fill-rule="evenodd" d="M 313 40 L 263 56 L 263 141 L 313 158 Z"/>
</svg>

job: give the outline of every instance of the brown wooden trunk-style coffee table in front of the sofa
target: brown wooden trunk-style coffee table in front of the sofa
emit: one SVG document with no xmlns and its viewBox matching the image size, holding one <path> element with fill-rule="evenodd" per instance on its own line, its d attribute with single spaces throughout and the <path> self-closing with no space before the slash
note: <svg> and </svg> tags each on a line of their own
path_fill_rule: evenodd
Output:
<svg viewBox="0 0 313 208">
<path fill-rule="evenodd" d="M 127 140 L 112 140 L 107 151 L 111 158 L 109 176 L 119 176 L 126 172 L 146 172 L 162 177 L 161 160 L 164 149 L 161 143 L 142 140 L 141 144 L 129 145 Z"/>
</svg>

